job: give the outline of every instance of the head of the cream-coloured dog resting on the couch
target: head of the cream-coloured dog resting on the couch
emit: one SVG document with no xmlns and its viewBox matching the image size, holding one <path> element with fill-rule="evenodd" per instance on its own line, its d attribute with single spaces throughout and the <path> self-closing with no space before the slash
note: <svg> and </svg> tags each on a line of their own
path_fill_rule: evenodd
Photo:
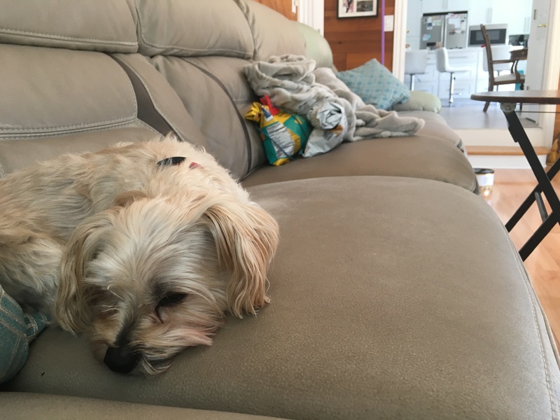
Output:
<svg viewBox="0 0 560 420">
<path fill-rule="evenodd" d="M 277 242 L 272 216 L 229 196 L 132 200 L 73 232 L 57 321 L 87 332 L 111 370 L 162 372 L 185 347 L 211 344 L 225 311 L 241 317 L 268 302 Z"/>
</svg>

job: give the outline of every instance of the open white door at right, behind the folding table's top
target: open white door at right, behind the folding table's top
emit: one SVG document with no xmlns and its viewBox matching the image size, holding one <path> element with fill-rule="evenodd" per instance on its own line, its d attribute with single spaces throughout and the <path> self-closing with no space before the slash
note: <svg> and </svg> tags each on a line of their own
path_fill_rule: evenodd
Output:
<svg viewBox="0 0 560 420">
<path fill-rule="evenodd" d="M 547 57 L 547 36 L 550 18 L 550 0 L 533 0 L 531 29 L 529 31 L 526 90 L 542 90 L 545 61 Z M 538 105 L 524 105 L 523 111 L 538 111 Z M 538 123 L 538 113 L 524 113 L 525 118 Z"/>
</svg>

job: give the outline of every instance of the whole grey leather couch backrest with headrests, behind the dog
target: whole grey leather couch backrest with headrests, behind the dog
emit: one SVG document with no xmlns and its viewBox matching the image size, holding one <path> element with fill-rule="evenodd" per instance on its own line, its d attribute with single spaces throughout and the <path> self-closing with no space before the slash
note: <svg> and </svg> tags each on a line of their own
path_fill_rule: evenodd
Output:
<svg viewBox="0 0 560 420">
<path fill-rule="evenodd" d="M 0 0 L 0 10 L 4 172 L 173 130 L 242 179 L 266 161 L 244 120 L 257 98 L 243 66 L 321 50 L 252 0 Z"/>
</svg>

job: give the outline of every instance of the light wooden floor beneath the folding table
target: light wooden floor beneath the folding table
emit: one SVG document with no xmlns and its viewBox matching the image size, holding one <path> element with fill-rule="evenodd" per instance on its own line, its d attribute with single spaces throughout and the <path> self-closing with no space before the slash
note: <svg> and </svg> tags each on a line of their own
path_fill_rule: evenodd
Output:
<svg viewBox="0 0 560 420">
<path fill-rule="evenodd" d="M 503 223 L 507 222 L 519 204 L 536 185 L 529 169 L 496 169 L 491 197 L 486 199 Z M 560 195 L 560 175 L 553 181 L 556 194 Z M 547 207 L 549 209 L 549 207 Z M 535 204 L 513 228 L 510 235 L 519 249 L 540 225 L 540 214 Z M 545 309 L 548 321 L 560 338 L 560 226 L 556 224 L 547 237 L 525 260 L 533 287 Z"/>
</svg>

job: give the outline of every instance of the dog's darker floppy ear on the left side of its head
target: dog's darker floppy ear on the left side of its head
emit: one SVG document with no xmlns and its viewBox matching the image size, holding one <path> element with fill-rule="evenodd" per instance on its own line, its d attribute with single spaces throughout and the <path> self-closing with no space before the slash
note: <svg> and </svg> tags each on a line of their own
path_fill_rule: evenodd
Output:
<svg viewBox="0 0 560 420">
<path fill-rule="evenodd" d="M 89 290 L 84 285 L 87 263 L 102 247 L 102 234 L 111 227 L 119 208 L 102 211 L 78 225 L 62 253 L 60 284 L 55 314 L 59 325 L 70 332 L 82 332 L 90 323 Z"/>
</svg>

